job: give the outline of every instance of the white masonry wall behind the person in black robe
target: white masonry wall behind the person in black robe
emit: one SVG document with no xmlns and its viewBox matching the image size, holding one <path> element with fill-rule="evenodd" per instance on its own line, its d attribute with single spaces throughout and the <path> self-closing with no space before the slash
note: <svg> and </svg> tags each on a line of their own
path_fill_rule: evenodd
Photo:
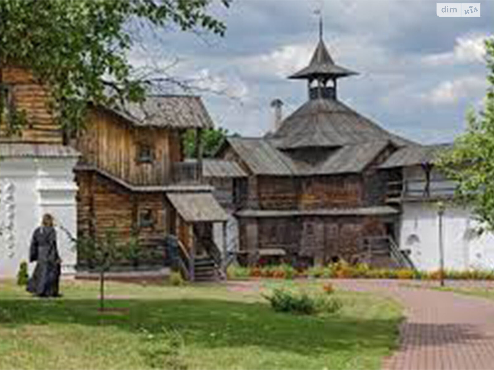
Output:
<svg viewBox="0 0 494 370">
<path fill-rule="evenodd" d="M 77 158 L 3 158 L 0 160 L 0 277 L 14 277 L 29 260 L 34 229 L 44 213 L 55 218 L 62 273 L 74 273 L 77 255 L 62 228 L 77 235 Z M 30 264 L 30 272 L 34 263 Z"/>
</svg>

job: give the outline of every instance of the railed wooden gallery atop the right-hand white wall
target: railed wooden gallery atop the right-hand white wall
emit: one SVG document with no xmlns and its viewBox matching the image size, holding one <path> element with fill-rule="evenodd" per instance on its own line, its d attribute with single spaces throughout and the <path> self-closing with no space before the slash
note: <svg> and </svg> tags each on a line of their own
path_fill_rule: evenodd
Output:
<svg viewBox="0 0 494 370">
<path fill-rule="evenodd" d="M 455 184 L 449 180 L 404 180 L 390 181 L 386 189 L 386 202 L 427 201 L 451 198 Z"/>
</svg>

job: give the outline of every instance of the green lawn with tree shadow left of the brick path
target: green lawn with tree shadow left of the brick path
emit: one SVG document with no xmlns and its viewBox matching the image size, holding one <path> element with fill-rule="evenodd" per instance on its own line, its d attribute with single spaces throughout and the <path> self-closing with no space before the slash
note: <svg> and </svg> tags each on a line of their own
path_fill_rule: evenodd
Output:
<svg viewBox="0 0 494 370">
<path fill-rule="evenodd" d="M 225 285 L 110 283 L 104 313 L 96 282 L 62 292 L 43 300 L 0 282 L 0 370 L 379 369 L 401 320 L 395 302 L 364 293 L 336 292 L 344 308 L 322 317 L 276 313 L 259 290 Z"/>
</svg>

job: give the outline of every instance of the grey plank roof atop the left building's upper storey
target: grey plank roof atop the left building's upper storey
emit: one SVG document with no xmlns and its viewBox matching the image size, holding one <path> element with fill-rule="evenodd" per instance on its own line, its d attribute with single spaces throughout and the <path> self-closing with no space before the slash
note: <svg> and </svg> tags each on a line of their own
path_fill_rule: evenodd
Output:
<svg viewBox="0 0 494 370">
<path fill-rule="evenodd" d="M 110 111 L 137 127 L 212 128 L 213 121 L 199 96 L 150 95 L 142 103 L 117 106 Z"/>
</svg>

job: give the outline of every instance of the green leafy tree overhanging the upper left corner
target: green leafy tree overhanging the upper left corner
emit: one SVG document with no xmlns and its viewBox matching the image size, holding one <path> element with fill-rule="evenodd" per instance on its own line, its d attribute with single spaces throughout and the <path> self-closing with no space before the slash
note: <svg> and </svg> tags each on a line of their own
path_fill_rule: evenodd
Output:
<svg viewBox="0 0 494 370">
<path fill-rule="evenodd" d="M 208 13 L 210 1 L 0 0 L 0 67 L 27 67 L 49 86 L 50 108 L 71 132 L 82 126 L 88 101 L 138 102 L 158 81 L 139 77 L 128 61 L 136 27 L 222 36 L 225 25 Z"/>
</svg>

